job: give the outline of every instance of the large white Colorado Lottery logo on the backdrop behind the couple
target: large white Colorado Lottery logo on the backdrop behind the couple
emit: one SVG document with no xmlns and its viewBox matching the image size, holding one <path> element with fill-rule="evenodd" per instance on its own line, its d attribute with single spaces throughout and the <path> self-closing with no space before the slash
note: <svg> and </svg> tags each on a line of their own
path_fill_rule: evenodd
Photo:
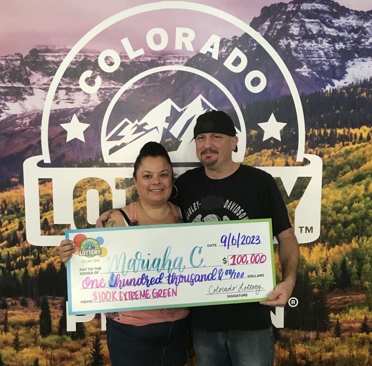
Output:
<svg viewBox="0 0 372 366">
<path fill-rule="evenodd" d="M 149 27 L 147 22 L 141 22 L 151 14 L 164 23 Z M 201 17 L 203 32 L 196 31 Z M 224 38 L 218 27 L 222 23 L 230 26 L 236 36 Z M 91 42 L 98 38 L 105 39 L 109 46 L 97 53 L 96 62 L 81 63 Z M 77 60 L 86 68 L 74 68 Z M 78 70 L 71 88 L 79 91 L 81 107 L 66 120 L 55 121 L 52 116 L 58 109 L 55 100 L 57 95 L 61 96 L 59 86 L 72 73 L 71 68 L 74 72 Z M 281 85 L 288 86 L 296 110 L 296 123 L 292 125 L 277 121 L 275 113 L 258 121 L 243 116 L 244 108 L 254 108 L 255 100 L 269 97 L 273 88 L 280 87 L 267 75 L 265 70 L 269 69 L 276 70 Z M 54 224 L 80 228 L 73 207 L 73 193 L 79 182 L 88 184 L 92 177 L 100 179 L 109 187 L 113 207 L 124 206 L 125 189 L 118 188 L 117 179 L 132 177 L 131 164 L 148 141 L 160 142 L 167 148 L 176 173 L 197 166 L 193 128 L 196 118 L 212 109 L 227 110 L 233 118 L 239 142 L 237 153 L 232 154 L 237 162 L 246 156 L 247 135 L 252 130 L 264 131 L 263 141 L 283 138 L 283 144 L 281 131 L 296 131 L 296 159 L 304 164 L 260 168 L 280 177 L 288 195 L 298 177 L 311 177 L 295 210 L 294 226 L 300 243 L 317 239 L 322 162 L 316 155 L 305 154 L 301 101 L 284 62 L 269 42 L 236 17 L 202 4 L 162 1 L 137 6 L 104 20 L 73 46 L 58 68 L 44 105 L 42 155 L 24 162 L 29 243 L 56 245 L 64 238 L 41 235 L 40 179 L 52 180 Z M 59 149 L 64 147 L 66 153 L 61 154 Z M 78 161 L 68 160 L 70 154 L 78 156 Z M 61 163 L 61 159 L 71 164 Z M 82 160 L 86 166 L 74 164 Z M 86 193 L 89 224 L 95 223 L 99 205 L 98 194 L 92 191 Z"/>
</svg>

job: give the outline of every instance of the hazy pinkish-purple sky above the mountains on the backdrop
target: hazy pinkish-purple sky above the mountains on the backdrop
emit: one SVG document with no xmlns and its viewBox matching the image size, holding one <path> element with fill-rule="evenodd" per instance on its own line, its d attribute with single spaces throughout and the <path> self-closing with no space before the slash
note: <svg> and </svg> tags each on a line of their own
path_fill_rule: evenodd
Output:
<svg viewBox="0 0 372 366">
<path fill-rule="evenodd" d="M 337 0 L 340 4 L 356 9 L 371 10 L 371 0 Z M 0 32 L 0 55 L 14 54 L 21 52 L 27 54 L 31 48 L 38 44 L 73 46 L 90 29 L 102 22 L 106 18 L 130 7 L 146 4 L 154 1 L 150 0 L 12 0 L 4 1 L 1 4 L 1 32 Z M 230 13 L 246 23 L 250 23 L 253 17 L 260 14 L 260 10 L 265 5 L 278 2 L 275 0 L 199 0 L 201 4 L 216 7 Z M 289 0 L 284 0 L 288 3 Z M 175 26 L 187 26 L 187 12 L 185 13 L 185 23 L 167 17 L 167 19 L 154 19 L 153 15 L 141 16 L 141 22 L 145 22 L 147 30 L 152 26 L 159 26 L 160 21 L 165 21 L 169 28 Z M 134 21 L 134 20 L 133 20 Z M 223 22 L 222 22 L 223 23 Z M 228 24 L 218 24 L 216 29 L 221 36 L 230 37 L 237 33 L 236 29 L 231 29 Z M 143 46 L 142 37 L 136 39 L 136 32 L 131 28 L 131 24 L 126 24 L 127 29 L 116 28 L 119 34 L 116 39 L 120 41 L 125 36 L 132 37 L 133 46 Z M 203 29 L 203 22 L 200 19 L 199 25 L 193 25 L 192 29 L 198 33 Z M 133 30 L 130 34 L 128 29 Z M 112 35 L 112 34 L 111 34 Z M 170 43 L 171 44 L 171 36 Z M 206 40 L 205 40 L 206 41 Z M 202 42 L 202 41 L 201 41 Z M 102 51 L 107 48 L 104 39 L 97 39 L 90 45 Z M 113 45 L 109 45 L 114 47 Z M 196 45 L 197 46 L 197 45 Z M 124 51 L 123 48 L 119 49 Z"/>
</svg>

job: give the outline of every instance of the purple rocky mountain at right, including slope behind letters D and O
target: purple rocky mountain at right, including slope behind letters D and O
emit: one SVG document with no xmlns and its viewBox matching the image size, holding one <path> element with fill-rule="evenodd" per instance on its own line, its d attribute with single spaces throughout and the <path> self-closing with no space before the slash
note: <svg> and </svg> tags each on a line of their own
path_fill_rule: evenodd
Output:
<svg viewBox="0 0 372 366">
<path fill-rule="evenodd" d="M 250 26 L 279 54 L 300 94 L 372 76 L 372 10 L 347 9 L 333 0 L 294 0 L 263 7 Z M 238 74 L 223 64 L 235 47 L 247 58 L 244 72 Z M 286 80 L 271 56 L 246 33 L 221 39 L 218 60 L 210 52 L 197 53 L 185 65 L 205 71 L 228 86 L 238 103 L 289 94 Z M 261 71 L 267 79 L 261 93 L 247 93 L 245 77 L 251 70 Z M 171 78 L 176 80 L 177 74 Z M 198 87 L 214 105 L 226 107 L 210 95 L 211 85 L 206 81 L 200 83 L 190 77 L 182 86 L 186 93 Z"/>
</svg>

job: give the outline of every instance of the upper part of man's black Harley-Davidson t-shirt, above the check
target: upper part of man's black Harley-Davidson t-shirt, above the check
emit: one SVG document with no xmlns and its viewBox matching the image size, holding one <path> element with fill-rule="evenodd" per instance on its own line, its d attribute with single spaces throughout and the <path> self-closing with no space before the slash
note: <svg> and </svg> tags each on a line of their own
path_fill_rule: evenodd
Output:
<svg viewBox="0 0 372 366">
<path fill-rule="evenodd" d="M 258 168 L 240 165 L 226 178 L 211 179 L 199 167 L 186 171 L 175 185 L 178 194 L 172 201 L 186 222 L 271 218 L 273 235 L 291 227 L 278 185 Z"/>
</svg>

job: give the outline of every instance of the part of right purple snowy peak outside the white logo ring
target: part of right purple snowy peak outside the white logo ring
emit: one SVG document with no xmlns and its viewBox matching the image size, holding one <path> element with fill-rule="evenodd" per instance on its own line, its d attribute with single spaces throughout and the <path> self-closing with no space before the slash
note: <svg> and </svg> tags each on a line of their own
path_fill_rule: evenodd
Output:
<svg viewBox="0 0 372 366">
<path fill-rule="evenodd" d="M 372 76 L 372 10 L 294 0 L 264 7 L 251 26 L 280 53 L 300 93 Z"/>
</svg>

